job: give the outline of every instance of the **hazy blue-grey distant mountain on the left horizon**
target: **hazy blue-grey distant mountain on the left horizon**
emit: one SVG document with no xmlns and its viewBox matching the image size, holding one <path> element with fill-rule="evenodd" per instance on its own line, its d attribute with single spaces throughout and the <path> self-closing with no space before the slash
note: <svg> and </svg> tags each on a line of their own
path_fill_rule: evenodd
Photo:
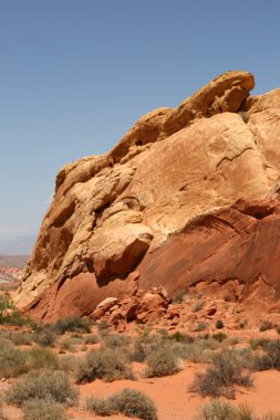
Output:
<svg viewBox="0 0 280 420">
<path fill-rule="evenodd" d="M 0 255 L 30 255 L 35 239 L 35 235 L 0 239 Z"/>
</svg>

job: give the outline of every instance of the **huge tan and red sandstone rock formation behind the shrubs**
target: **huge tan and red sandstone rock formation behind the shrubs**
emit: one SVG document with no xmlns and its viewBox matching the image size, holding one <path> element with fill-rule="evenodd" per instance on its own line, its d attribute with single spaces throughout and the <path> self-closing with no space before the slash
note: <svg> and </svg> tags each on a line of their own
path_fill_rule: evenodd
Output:
<svg viewBox="0 0 280 420">
<path fill-rule="evenodd" d="M 142 117 L 108 154 L 62 168 L 18 305 L 48 322 L 90 314 L 133 294 L 135 269 L 141 287 L 172 294 L 201 280 L 256 279 L 255 266 L 269 264 L 267 246 L 255 252 L 257 234 L 277 244 L 279 230 L 277 202 L 260 199 L 279 196 L 280 90 L 249 97 L 252 87 L 250 73 L 228 72 Z M 239 199 L 273 211 L 256 218 L 248 201 L 232 207 Z"/>
</svg>

